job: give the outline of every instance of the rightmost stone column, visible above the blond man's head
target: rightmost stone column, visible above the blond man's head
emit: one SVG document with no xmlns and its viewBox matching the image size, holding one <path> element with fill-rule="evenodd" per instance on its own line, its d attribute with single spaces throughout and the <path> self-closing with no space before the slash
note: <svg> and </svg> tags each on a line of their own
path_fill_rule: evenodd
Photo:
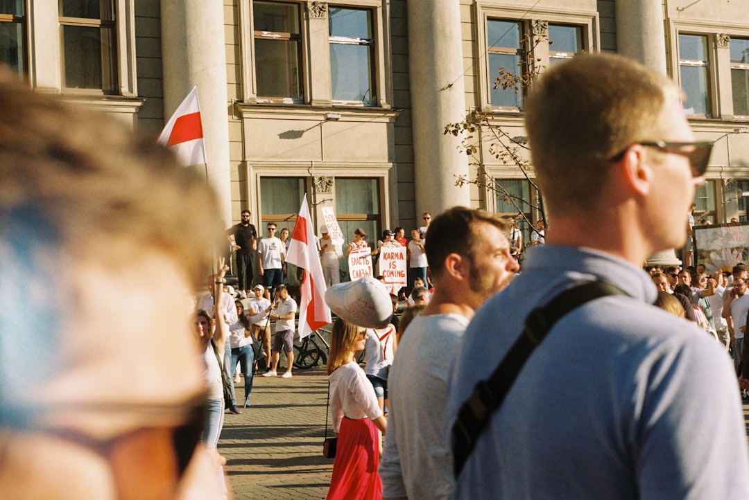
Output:
<svg viewBox="0 0 749 500">
<path fill-rule="evenodd" d="M 616 52 L 666 72 L 666 35 L 661 0 L 616 1 Z"/>
</svg>

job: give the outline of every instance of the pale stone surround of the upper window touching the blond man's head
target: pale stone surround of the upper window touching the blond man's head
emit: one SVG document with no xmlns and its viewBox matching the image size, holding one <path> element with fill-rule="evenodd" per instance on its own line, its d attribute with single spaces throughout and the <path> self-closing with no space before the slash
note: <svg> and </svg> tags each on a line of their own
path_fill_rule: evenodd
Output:
<svg viewBox="0 0 749 500">
<path fill-rule="evenodd" d="M 473 54 L 466 56 L 470 58 L 467 63 L 476 65 L 476 101 L 479 109 L 488 113 L 495 114 L 519 114 L 523 110 L 520 108 L 500 108 L 491 105 L 491 86 L 493 79 L 489 78 L 488 64 L 488 19 L 503 19 L 507 21 L 523 22 L 526 26 L 524 30 L 531 38 L 545 29 L 545 35 L 548 34 L 548 28 L 544 25 L 574 25 L 582 29 L 582 50 L 584 52 L 595 52 L 600 46 L 600 22 L 598 19 L 598 9 L 595 10 L 551 10 L 546 8 L 534 8 L 528 10 L 526 7 L 499 7 L 492 0 L 476 0 L 473 5 L 474 19 L 473 23 Z M 477 55 L 477 56 L 476 56 Z M 477 58 L 477 61 L 476 61 Z M 538 61 L 541 59 L 541 61 Z M 530 58 L 532 67 L 531 71 L 543 70 L 549 67 L 549 46 L 548 43 L 539 43 L 533 50 L 533 57 Z"/>
</svg>

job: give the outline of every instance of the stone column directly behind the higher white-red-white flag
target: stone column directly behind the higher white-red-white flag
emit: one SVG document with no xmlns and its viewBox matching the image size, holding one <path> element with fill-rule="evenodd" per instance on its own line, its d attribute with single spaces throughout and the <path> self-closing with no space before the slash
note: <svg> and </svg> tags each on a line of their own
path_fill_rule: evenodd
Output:
<svg viewBox="0 0 749 500">
<path fill-rule="evenodd" d="M 228 93 L 222 0 L 161 0 L 164 120 L 198 87 L 207 176 L 231 223 Z"/>
</svg>

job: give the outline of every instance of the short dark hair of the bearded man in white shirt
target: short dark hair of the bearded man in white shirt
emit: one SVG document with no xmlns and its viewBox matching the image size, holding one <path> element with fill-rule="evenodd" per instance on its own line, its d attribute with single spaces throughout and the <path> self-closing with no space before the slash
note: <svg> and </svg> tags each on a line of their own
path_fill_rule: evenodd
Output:
<svg viewBox="0 0 749 500">
<path fill-rule="evenodd" d="M 434 217 L 424 248 L 432 277 L 438 280 L 443 274 L 445 259 L 451 253 L 471 258 L 474 242 L 482 238 L 477 229 L 480 223 L 507 230 L 507 223 L 501 217 L 464 206 L 454 206 Z"/>
</svg>

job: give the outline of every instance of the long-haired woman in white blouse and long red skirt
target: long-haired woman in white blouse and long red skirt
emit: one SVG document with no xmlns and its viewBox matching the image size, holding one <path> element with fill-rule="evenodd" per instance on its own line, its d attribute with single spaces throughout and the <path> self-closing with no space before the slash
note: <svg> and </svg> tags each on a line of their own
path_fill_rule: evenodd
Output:
<svg viewBox="0 0 749 500">
<path fill-rule="evenodd" d="M 336 460 L 327 500 L 373 500 L 382 498 L 380 431 L 387 421 L 354 352 L 366 345 L 366 330 L 336 319 L 330 333 L 330 414 L 338 436 Z"/>
</svg>

